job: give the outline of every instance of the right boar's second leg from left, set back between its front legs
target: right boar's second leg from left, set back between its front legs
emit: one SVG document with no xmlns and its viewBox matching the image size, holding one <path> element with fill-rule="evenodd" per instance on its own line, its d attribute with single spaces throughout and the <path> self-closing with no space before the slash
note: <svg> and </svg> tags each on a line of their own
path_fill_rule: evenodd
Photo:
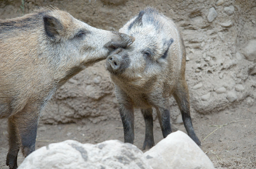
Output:
<svg viewBox="0 0 256 169">
<path fill-rule="evenodd" d="M 145 140 L 142 147 L 142 150 L 150 149 L 154 146 L 154 136 L 153 136 L 153 116 L 152 116 L 152 108 L 150 109 L 141 109 L 141 113 L 144 117 L 145 121 Z"/>
</svg>

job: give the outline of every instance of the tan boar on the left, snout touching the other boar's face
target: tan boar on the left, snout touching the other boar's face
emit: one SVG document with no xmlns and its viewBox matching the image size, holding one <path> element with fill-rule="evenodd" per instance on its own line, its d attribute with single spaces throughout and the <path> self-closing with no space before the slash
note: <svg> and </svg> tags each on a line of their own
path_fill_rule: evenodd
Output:
<svg viewBox="0 0 256 169">
<path fill-rule="evenodd" d="M 0 20 L 0 119 L 8 118 L 6 165 L 35 150 L 39 115 L 55 91 L 134 39 L 96 29 L 57 8 Z"/>
</svg>

